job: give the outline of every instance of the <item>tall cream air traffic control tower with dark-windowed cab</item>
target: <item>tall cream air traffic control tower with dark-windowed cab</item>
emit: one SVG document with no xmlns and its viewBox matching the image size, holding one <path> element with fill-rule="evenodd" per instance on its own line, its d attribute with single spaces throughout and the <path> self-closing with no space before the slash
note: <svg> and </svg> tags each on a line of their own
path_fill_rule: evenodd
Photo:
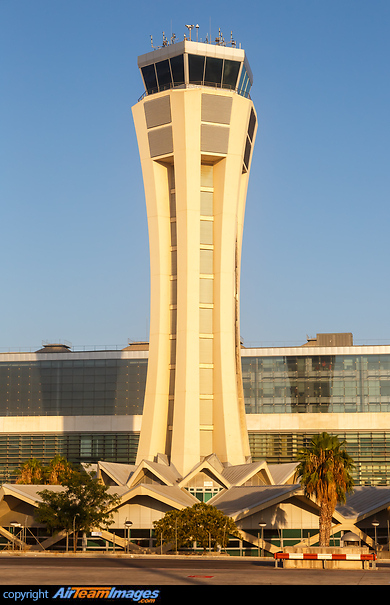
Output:
<svg viewBox="0 0 390 605">
<path fill-rule="evenodd" d="M 151 310 L 137 463 L 163 454 L 184 476 L 211 453 L 226 464 L 250 460 L 239 293 L 257 129 L 252 74 L 244 50 L 221 36 L 212 44 L 164 40 L 138 66 L 145 93 L 132 111 Z"/>
</svg>

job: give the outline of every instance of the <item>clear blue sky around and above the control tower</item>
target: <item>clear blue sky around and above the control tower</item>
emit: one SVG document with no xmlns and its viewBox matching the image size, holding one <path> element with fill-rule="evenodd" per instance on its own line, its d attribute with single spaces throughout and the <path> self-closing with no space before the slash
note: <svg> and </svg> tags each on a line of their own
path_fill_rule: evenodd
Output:
<svg viewBox="0 0 390 605">
<path fill-rule="evenodd" d="M 390 343 L 389 0 L 0 0 L 0 350 L 148 337 L 137 56 L 186 23 L 254 75 L 244 343 Z"/>
</svg>

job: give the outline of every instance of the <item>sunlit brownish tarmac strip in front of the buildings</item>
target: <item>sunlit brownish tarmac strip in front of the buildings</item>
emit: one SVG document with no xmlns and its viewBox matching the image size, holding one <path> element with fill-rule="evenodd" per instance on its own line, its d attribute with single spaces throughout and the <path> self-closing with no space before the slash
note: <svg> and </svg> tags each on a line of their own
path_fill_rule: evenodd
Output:
<svg viewBox="0 0 390 605">
<path fill-rule="evenodd" d="M 275 568 L 273 559 L 113 553 L 0 552 L 0 585 L 126 586 L 382 586 L 390 585 L 390 561 L 370 570 Z M 4 590 L 0 589 L 0 596 Z"/>
</svg>

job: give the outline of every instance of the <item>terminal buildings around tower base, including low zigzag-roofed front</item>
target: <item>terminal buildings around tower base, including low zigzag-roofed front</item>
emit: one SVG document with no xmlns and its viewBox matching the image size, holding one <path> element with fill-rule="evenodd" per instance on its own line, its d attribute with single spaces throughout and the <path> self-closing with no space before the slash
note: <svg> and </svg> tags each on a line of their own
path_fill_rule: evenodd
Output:
<svg viewBox="0 0 390 605">
<path fill-rule="evenodd" d="M 230 554 L 315 544 L 318 509 L 294 484 L 295 457 L 326 430 L 346 440 L 355 461 L 355 491 L 336 509 L 331 543 L 342 545 L 352 532 L 372 548 L 376 535 L 388 550 L 390 346 L 354 346 L 352 335 L 318 334 L 298 347 L 242 348 L 252 462 L 226 465 L 205 456 L 185 477 L 164 456 L 136 464 L 148 354 L 147 343 L 133 343 L 116 351 L 45 345 L 36 353 L 0 355 L 1 548 L 7 540 L 24 547 L 18 534 L 13 540 L 11 523 L 26 519 L 31 548 L 37 540 L 42 548 L 65 547 L 34 521 L 37 491 L 44 488 L 15 483 L 22 462 L 36 457 L 48 464 L 56 454 L 96 464 L 121 495 L 114 526 L 88 548 L 123 549 L 127 519 L 134 543 L 156 547 L 153 520 L 198 500 L 240 527 L 242 539 L 230 541 Z M 380 523 L 376 530 L 373 521 Z M 259 523 L 265 523 L 263 539 Z"/>
</svg>

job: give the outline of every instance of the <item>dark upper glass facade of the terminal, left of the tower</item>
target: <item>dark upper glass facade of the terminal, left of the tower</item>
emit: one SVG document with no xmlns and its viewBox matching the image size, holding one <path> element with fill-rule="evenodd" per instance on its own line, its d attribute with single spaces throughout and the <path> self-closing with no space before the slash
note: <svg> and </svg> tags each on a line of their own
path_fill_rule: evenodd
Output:
<svg viewBox="0 0 390 605">
<path fill-rule="evenodd" d="M 0 363 L 0 416 L 142 414 L 146 359 Z"/>
</svg>

